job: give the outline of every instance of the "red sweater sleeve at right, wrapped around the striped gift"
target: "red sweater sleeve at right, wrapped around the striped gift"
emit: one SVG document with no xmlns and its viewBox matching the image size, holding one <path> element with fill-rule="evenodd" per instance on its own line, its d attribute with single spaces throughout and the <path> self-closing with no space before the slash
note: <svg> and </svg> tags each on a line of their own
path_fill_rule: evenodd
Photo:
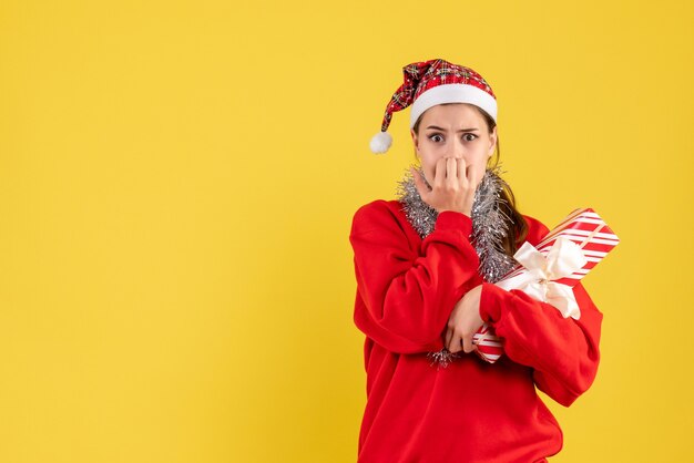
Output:
<svg viewBox="0 0 694 463">
<path fill-rule="evenodd" d="M 532 222 L 531 222 L 532 223 Z M 535 227 L 537 230 L 537 227 Z M 540 235 L 547 233 L 541 226 Z M 598 372 L 602 313 L 583 286 L 574 288 L 579 320 L 564 318 L 553 306 L 523 291 L 482 284 L 480 316 L 504 339 L 509 359 L 533 369 L 538 388 L 564 407 L 585 392 Z"/>
</svg>

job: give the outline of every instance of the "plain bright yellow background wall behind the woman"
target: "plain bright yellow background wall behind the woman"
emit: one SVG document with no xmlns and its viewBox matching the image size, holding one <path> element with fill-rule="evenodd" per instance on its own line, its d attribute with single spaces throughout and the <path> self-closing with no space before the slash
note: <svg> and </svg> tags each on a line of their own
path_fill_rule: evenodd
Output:
<svg viewBox="0 0 694 463">
<path fill-rule="evenodd" d="M 402 65 L 469 65 L 549 226 L 622 244 L 584 285 L 602 362 L 555 462 L 682 462 L 691 432 L 686 1 L 0 6 L 0 461 L 350 462 L 354 212 L 392 198 Z"/>
</svg>

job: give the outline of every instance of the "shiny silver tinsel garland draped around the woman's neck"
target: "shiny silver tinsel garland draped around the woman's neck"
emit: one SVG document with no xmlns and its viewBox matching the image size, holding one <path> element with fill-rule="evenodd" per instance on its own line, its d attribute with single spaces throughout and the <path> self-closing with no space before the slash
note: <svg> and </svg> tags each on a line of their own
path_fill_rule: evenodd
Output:
<svg viewBox="0 0 694 463">
<path fill-rule="evenodd" d="M 415 168 L 421 178 L 425 178 L 421 167 Z M 498 281 L 516 265 L 516 260 L 503 251 L 502 246 L 511 222 L 503 212 L 506 207 L 502 207 L 506 204 L 501 196 L 504 186 L 506 182 L 500 177 L 500 167 L 488 168 L 474 192 L 470 214 L 472 219 L 470 241 L 480 261 L 478 272 L 488 282 Z M 433 232 L 438 212 L 421 199 L 409 171 L 399 182 L 398 200 L 402 204 L 408 222 L 422 239 Z M 446 348 L 429 353 L 431 364 L 437 363 L 441 367 L 447 367 L 457 357 Z"/>
</svg>

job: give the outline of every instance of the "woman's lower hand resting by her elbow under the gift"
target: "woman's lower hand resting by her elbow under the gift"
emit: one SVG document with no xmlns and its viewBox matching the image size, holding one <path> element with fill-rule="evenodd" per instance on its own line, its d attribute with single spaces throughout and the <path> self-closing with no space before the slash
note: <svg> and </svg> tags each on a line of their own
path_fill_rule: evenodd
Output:
<svg viewBox="0 0 694 463">
<path fill-rule="evenodd" d="M 472 337 L 484 323 L 480 317 L 481 294 L 482 285 L 476 286 L 466 292 L 451 311 L 448 318 L 445 343 L 450 352 L 463 350 L 466 353 L 470 353 L 476 349 Z"/>
</svg>

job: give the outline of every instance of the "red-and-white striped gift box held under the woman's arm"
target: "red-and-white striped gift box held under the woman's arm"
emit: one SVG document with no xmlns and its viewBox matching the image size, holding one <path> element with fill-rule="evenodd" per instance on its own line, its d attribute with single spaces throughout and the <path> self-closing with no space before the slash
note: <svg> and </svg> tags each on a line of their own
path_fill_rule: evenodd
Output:
<svg viewBox="0 0 694 463">
<path fill-rule="evenodd" d="M 559 245 L 555 246 L 555 244 L 563 240 L 570 240 L 575 244 L 581 249 L 584 260 L 581 261 L 582 266 L 580 268 L 576 268 L 569 275 L 550 279 L 549 281 L 565 285 L 571 288 L 620 243 L 616 235 L 591 208 L 576 209 L 571 213 L 561 224 L 548 233 L 534 249 L 547 258 L 550 255 L 550 250 L 555 248 L 555 250 L 552 251 L 552 256 L 554 257 L 558 253 L 557 249 L 560 247 Z M 571 245 L 571 247 L 575 249 L 574 246 Z M 531 251 L 534 251 L 534 249 L 531 249 Z M 517 253 L 516 256 L 518 256 L 519 253 Z M 530 274 L 531 270 L 522 265 L 518 265 L 497 281 L 496 285 L 504 289 L 516 289 L 514 281 L 523 280 L 524 277 L 531 277 Z M 524 279 L 528 280 L 529 278 Z M 509 282 L 511 284 L 509 285 Z M 538 284 L 548 284 L 548 280 L 540 278 Z M 527 290 L 527 292 L 534 297 L 534 294 L 531 294 L 529 290 Z M 564 317 L 567 317 L 565 313 Z M 578 316 L 574 315 L 572 315 L 572 317 L 578 318 Z M 477 344 L 476 352 L 490 363 L 496 362 L 503 353 L 503 340 L 497 337 L 493 332 L 493 328 L 487 323 L 474 333 L 473 343 Z"/>
</svg>

